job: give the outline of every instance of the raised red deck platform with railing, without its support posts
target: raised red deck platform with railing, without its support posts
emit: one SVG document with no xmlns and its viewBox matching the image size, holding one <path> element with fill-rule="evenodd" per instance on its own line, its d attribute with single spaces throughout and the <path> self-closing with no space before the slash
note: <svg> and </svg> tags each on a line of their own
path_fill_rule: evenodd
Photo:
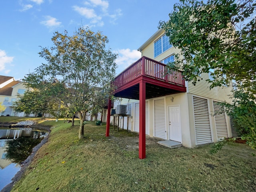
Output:
<svg viewBox="0 0 256 192">
<path fill-rule="evenodd" d="M 168 72 L 168 73 L 167 73 Z M 146 99 L 186 92 L 181 71 L 168 71 L 166 64 L 142 57 L 114 80 L 116 97 L 139 99 L 139 82 L 146 83 Z"/>
</svg>

